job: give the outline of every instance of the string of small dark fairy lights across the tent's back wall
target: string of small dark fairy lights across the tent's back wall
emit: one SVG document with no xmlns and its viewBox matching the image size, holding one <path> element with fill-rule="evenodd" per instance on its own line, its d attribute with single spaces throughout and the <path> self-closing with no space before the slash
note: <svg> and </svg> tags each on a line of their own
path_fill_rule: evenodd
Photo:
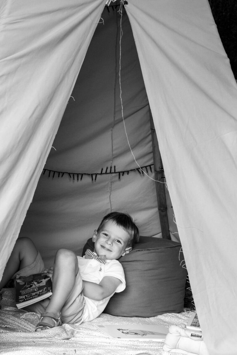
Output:
<svg viewBox="0 0 237 355">
<path fill-rule="evenodd" d="M 50 170 L 50 169 L 43 169 L 43 175 L 45 175 L 46 171 L 48 171 L 48 178 L 50 176 L 52 179 L 55 177 L 55 175 L 60 178 L 64 175 L 68 175 L 69 178 L 71 178 L 73 181 L 77 180 L 82 180 L 84 175 L 91 176 L 92 181 L 96 181 L 97 175 L 108 175 L 108 174 L 118 174 L 118 178 L 120 179 L 121 176 L 124 176 L 124 174 L 128 175 L 130 171 L 138 171 L 139 175 L 148 174 L 149 172 L 152 173 L 152 166 L 154 164 L 146 165 L 146 166 L 141 166 L 141 168 L 135 168 L 135 169 L 129 169 L 129 170 L 122 170 L 122 171 L 116 171 L 116 167 L 110 166 L 106 167 L 106 169 L 102 168 L 100 173 L 69 173 L 68 171 L 56 171 L 56 170 Z M 80 178 L 80 179 L 79 179 Z"/>
</svg>

